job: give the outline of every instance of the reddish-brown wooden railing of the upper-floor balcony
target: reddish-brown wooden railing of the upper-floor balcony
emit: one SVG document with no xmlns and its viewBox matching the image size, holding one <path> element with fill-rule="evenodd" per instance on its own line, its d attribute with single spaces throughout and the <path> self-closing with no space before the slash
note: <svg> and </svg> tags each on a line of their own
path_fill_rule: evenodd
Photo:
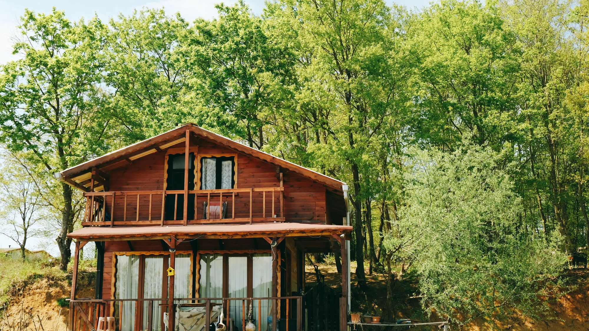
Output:
<svg viewBox="0 0 589 331">
<path fill-rule="evenodd" d="M 284 187 L 88 192 L 82 226 L 284 221 Z M 186 215 L 186 221 L 184 218 Z"/>
</svg>

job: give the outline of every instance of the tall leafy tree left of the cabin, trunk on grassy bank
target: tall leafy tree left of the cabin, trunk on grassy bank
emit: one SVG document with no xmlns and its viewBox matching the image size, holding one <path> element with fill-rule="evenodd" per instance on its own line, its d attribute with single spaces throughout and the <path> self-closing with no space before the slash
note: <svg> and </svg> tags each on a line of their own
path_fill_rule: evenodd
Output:
<svg viewBox="0 0 589 331">
<path fill-rule="evenodd" d="M 27 10 L 19 29 L 22 41 L 16 42 L 14 53 L 21 58 L 1 68 L 0 140 L 14 153 L 29 151 L 29 161 L 42 165 L 38 175 L 61 200 L 55 240 L 60 267 L 66 270 L 71 256 L 67 234 L 78 220 L 80 196 L 67 183 L 49 178 L 104 153 L 107 122 L 98 111 L 103 101 L 101 22 L 72 23 L 55 8 L 47 15 Z"/>
</svg>

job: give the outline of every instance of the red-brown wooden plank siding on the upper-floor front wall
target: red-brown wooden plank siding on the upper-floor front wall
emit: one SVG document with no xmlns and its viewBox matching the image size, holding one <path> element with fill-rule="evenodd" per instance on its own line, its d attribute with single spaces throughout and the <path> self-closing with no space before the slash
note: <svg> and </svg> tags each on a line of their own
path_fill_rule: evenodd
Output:
<svg viewBox="0 0 589 331">
<path fill-rule="evenodd" d="M 198 154 L 229 154 L 236 151 L 229 148 L 214 144 L 210 141 L 199 139 L 197 142 Z M 180 148 L 183 144 L 177 144 L 170 148 Z M 110 191 L 160 191 L 164 189 L 164 163 L 166 150 L 138 158 L 131 164 L 115 168 L 108 171 L 110 175 Z M 326 206 L 326 186 L 309 178 L 300 176 L 293 171 L 283 171 L 284 186 L 284 216 L 280 215 L 280 197 L 275 194 L 272 201 L 272 194 L 266 193 L 266 217 L 272 217 L 272 203 L 274 202 L 274 214 L 277 217 L 286 217 L 286 221 L 316 221 L 326 223 L 327 206 Z M 251 157 L 243 153 L 237 153 L 237 183 L 236 188 L 263 188 L 279 187 L 280 180 L 276 173 L 276 166 L 262 161 L 258 158 Z M 198 188 L 197 188 L 198 189 Z M 149 200 L 151 198 L 151 216 L 152 220 L 161 219 L 161 194 L 143 194 L 140 199 L 140 210 L 138 211 L 140 220 L 148 220 L 149 217 Z M 252 213 L 261 215 L 263 213 L 262 204 L 263 193 L 254 193 L 252 204 Z M 110 199 L 110 198 L 109 198 Z M 211 201 L 218 201 L 219 195 L 211 196 Z M 224 201 L 230 201 L 228 206 L 227 217 L 231 216 L 233 206 L 231 206 L 230 194 L 224 195 Z M 110 203 L 110 200 L 107 200 Z M 207 197 L 200 195 L 197 198 L 198 217 L 202 217 L 203 204 Z M 235 197 L 235 218 L 249 217 L 250 212 L 249 194 L 236 194 Z M 126 210 L 126 212 L 125 212 Z M 127 197 L 125 209 L 125 197 L 115 197 L 114 215 L 115 221 L 123 220 L 121 215 L 125 214 L 126 220 L 133 221 L 137 219 L 137 196 Z M 341 224 L 341 221 L 335 221 Z"/>
</svg>

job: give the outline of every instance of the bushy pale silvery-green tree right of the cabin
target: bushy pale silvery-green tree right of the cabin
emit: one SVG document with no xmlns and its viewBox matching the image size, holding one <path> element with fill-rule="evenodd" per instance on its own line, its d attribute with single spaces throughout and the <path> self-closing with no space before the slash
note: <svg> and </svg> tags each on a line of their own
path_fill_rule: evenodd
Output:
<svg viewBox="0 0 589 331">
<path fill-rule="evenodd" d="M 415 151 L 406 160 L 405 206 L 398 234 L 385 247 L 413 262 L 426 312 L 454 316 L 460 323 L 493 320 L 512 308 L 537 316 L 566 256 L 560 238 L 521 231 L 508 171 L 489 148 L 467 144 L 452 153 Z M 399 249 L 402 248 L 402 249 Z"/>
</svg>

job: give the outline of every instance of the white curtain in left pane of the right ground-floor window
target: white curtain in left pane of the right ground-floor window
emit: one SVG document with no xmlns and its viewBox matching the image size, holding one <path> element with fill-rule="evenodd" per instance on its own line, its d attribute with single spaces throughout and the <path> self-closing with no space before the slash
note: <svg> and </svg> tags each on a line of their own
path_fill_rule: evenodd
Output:
<svg viewBox="0 0 589 331">
<path fill-rule="evenodd" d="M 201 254 L 199 285 L 200 297 L 223 297 L 223 255 Z"/>
</svg>

